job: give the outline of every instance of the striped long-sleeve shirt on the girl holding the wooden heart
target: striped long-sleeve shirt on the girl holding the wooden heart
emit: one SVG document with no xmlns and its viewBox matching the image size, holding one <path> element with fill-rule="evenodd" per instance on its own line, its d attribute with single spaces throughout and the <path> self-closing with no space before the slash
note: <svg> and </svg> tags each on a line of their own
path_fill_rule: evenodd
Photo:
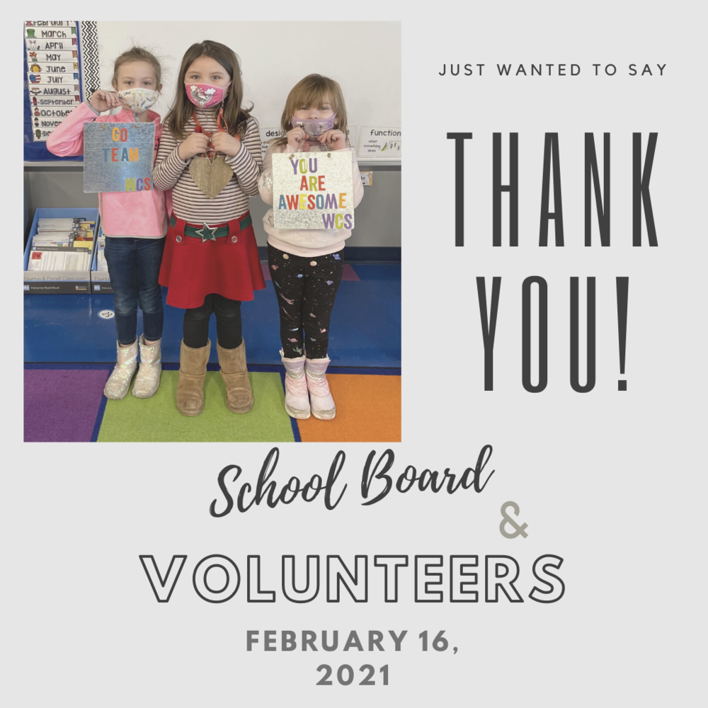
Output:
<svg viewBox="0 0 708 708">
<path fill-rule="evenodd" d="M 197 118 L 208 132 L 217 131 L 216 116 L 209 110 L 197 110 Z M 195 122 L 190 118 L 185 132 L 191 135 Z M 153 170 L 156 188 L 172 190 L 173 212 L 176 217 L 195 224 L 218 224 L 235 219 L 249 210 L 249 195 L 258 194 L 261 176 L 261 135 L 254 118 L 246 122 L 246 135 L 235 157 L 226 157 L 234 171 L 229 183 L 210 199 L 195 185 L 189 173 L 191 159 L 183 160 L 177 150 L 181 140 L 176 140 L 169 130 L 164 130 Z M 245 149 L 244 149 L 245 148 Z"/>
</svg>

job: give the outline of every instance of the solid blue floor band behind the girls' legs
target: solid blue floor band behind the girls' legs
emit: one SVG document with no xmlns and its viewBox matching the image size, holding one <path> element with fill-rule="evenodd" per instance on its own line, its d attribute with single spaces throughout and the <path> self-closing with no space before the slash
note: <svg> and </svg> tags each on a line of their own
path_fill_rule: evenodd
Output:
<svg viewBox="0 0 708 708">
<path fill-rule="evenodd" d="M 329 356 L 333 366 L 401 366 L 401 265 L 354 263 L 360 280 L 341 283 L 332 313 Z M 163 288 L 163 299 L 166 289 Z M 113 295 L 25 295 L 25 362 L 115 362 Z M 165 305 L 164 362 L 179 361 L 183 310 Z M 273 284 L 241 307 L 251 364 L 280 364 L 278 306 Z M 138 313 L 138 331 L 142 314 Z M 216 341 L 215 321 L 210 339 Z M 212 346 L 210 362 L 216 362 Z"/>
</svg>

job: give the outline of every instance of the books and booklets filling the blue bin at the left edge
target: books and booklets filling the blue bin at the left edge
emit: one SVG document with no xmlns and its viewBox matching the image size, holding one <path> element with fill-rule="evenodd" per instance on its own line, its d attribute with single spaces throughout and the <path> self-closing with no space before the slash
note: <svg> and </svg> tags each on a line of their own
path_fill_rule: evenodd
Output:
<svg viewBox="0 0 708 708">
<path fill-rule="evenodd" d="M 89 270 L 96 222 L 79 218 L 39 219 L 28 270 Z"/>
</svg>

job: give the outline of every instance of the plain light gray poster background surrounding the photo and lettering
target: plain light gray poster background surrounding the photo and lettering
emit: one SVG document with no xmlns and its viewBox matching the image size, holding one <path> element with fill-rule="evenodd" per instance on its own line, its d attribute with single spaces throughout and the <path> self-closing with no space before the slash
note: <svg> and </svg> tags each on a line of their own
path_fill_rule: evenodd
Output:
<svg viewBox="0 0 708 708">
<path fill-rule="evenodd" d="M 303 15 L 299 6 L 278 3 L 236 11 L 292 21 Z M 205 700 L 312 707 L 699 704 L 707 579 L 704 13 L 685 1 L 640 11 L 603 0 L 464 8 L 443 1 L 426 12 L 384 1 L 333 6 L 334 18 L 404 20 L 411 168 L 402 190 L 403 442 L 390 445 L 393 472 L 409 464 L 461 472 L 485 444 L 493 445 L 496 472 L 481 494 L 413 490 L 363 507 L 365 459 L 387 443 L 284 445 L 275 472 L 281 482 L 325 475 L 336 452 L 346 451 L 341 506 L 293 503 L 217 520 L 207 508 L 219 494 L 219 470 L 239 464 L 242 479 L 253 483 L 268 445 L 122 443 L 79 453 L 66 444 L 22 445 L 20 416 L 8 416 L 11 464 L 1 498 L 14 579 L 1 592 L 12 610 L 11 702 L 44 706 L 70 695 L 73 706 L 91 708 Z M 312 33 L 316 23 L 305 24 L 302 34 Z M 305 46 L 293 45 L 292 56 Z M 458 61 L 484 62 L 489 74 L 481 81 L 438 76 L 443 63 Z M 583 74 L 502 80 L 490 70 L 496 62 L 532 61 L 576 62 Z M 623 73 L 595 81 L 593 62 L 613 62 Z M 630 62 L 666 62 L 668 72 L 663 79 L 624 76 Z M 454 149 L 446 134 L 456 130 L 474 134 L 466 147 L 464 249 L 453 245 Z M 603 131 L 612 134 L 610 249 L 582 245 L 586 130 L 598 144 Z M 495 131 L 520 134 L 518 249 L 491 247 Z M 537 246 L 543 134 L 551 131 L 561 141 L 564 249 Z M 659 133 L 651 178 L 658 249 L 629 245 L 633 131 Z M 474 278 L 490 282 L 494 275 L 503 278 L 495 390 L 484 392 Z M 520 382 L 527 275 L 549 283 L 549 385 L 542 394 L 525 392 Z M 572 275 L 598 278 L 598 384 L 590 394 L 569 386 Z M 617 275 L 630 279 L 623 393 Z M 21 319 L 21 307 L 17 312 Z M 5 361 L 11 355 L 8 346 Z M 7 384 L 13 404 L 21 400 L 21 382 L 13 380 L 19 378 Z M 527 538 L 499 533 L 506 501 L 518 503 Z M 172 554 L 188 554 L 167 605 L 154 600 L 139 565 L 144 553 L 161 568 Z M 246 554 L 261 554 L 263 587 L 275 590 L 281 554 L 341 554 L 352 565 L 354 554 L 368 554 L 370 563 L 377 553 L 409 554 L 411 562 L 413 554 L 440 554 L 445 563 L 450 554 L 508 554 L 519 561 L 518 588 L 527 601 L 455 605 L 446 594 L 445 603 L 416 604 L 409 567 L 401 602 L 386 604 L 379 569 L 370 566 L 365 604 L 346 596 L 339 604 L 247 604 L 242 584 L 230 603 L 209 605 L 195 595 L 190 573 L 211 553 L 232 556 L 242 571 Z M 546 553 L 564 558 L 566 594 L 554 605 L 527 599 L 533 561 Z M 412 648 L 246 653 L 247 629 L 408 629 Z M 440 629 L 458 646 L 456 656 L 419 651 L 418 634 Z M 388 663 L 390 685 L 317 687 L 320 663 Z"/>
</svg>

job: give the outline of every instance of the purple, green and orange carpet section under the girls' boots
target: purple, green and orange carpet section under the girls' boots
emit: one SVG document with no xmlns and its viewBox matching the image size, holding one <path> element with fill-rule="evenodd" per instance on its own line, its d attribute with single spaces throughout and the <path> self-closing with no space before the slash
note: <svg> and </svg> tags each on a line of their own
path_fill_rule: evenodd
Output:
<svg viewBox="0 0 708 708">
<path fill-rule="evenodd" d="M 218 371 L 208 371 L 204 411 L 189 418 L 175 405 L 179 372 L 173 368 L 163 370 L 161 385 L 151 399 L 136 399 L 129 392 L 121 401 L 108 401 L 103 396 L 108 366 L 30 366 L 25 370 L 25 442 L 401 440 L 401 377 L 392 370 L 328 374 L 336 418 L 295 421 L 285 413 L 280 367 L 249 373 L 255 404 L 243 414 L 227 409 L 222 377 Z"/>
</svg>

